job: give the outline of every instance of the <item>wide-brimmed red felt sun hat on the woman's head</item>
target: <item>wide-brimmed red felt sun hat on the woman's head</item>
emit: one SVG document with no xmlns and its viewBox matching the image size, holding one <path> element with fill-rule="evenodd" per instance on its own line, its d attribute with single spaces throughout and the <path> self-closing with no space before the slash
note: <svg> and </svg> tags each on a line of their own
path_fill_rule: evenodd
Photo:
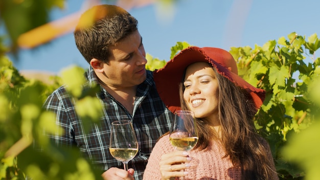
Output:
<svg viewBox="0 0 320 180">
<path fill-rule="evenodd" d="M 254 100 L 257 110 L 261 107 L 265 99 L 265 91 L 254 87 L 238 76 L 236 61 L 229 52 L 219 48 L 189 47 L 168 61 L 164 68 L 153 72 L 158 94 L 172 113 L 181 109 L 179 83 L 187 66 L 195 62 L 211 63 L 219 74 L 237 86 L 246 89 Z"/>
</svg>

